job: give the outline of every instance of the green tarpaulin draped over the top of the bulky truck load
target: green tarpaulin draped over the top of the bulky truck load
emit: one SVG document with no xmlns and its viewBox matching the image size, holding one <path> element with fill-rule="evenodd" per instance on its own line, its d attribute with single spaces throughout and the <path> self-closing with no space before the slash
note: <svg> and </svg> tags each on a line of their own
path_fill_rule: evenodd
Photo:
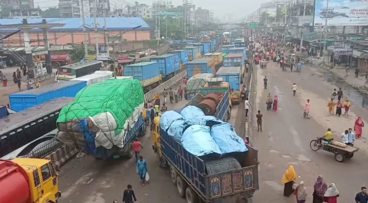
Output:
<svg viewBox="0 0 368 203">
<path fill-rule="evenodd" d="M 124 129 L 125 120 L 143 103 L 143 88 L 139 80 L 110 79 L 80 90 L 75 100 L 61 109 L 57 123 L 110 112 L 117 122 L 115 133 L 118 134 Z"/>
</svg>

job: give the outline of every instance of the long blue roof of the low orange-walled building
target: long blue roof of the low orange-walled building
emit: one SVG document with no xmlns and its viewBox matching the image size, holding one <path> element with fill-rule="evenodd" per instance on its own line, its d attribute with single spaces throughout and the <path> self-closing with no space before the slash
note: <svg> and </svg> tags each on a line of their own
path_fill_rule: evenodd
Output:
<svg viewBox="0 0 368 203">
<path fill-rule="evenodd" d="M 46 19 L 47 23 L 62 23 L 65 24 L 62 27 L 50 28 L 50 31 L 77 31 L 83 30 L 82 18 L 27 18 L 28 23 L 42 23 L 42 20 Z M 108 30 L 128 30 L 133 27 L 137 27 L 137 30 L 147 30 L 150 26 L 142 19 L 138 17 L 108 17 L 107 29 Z M 98 30 L 104 30 L 104 18 L 96 18 L 99 24 Z M 21 24 L 22 19 L 0 19 L 1 25 Z M 94 18 L 86 18 L 86 25 L 92 27 Z M 0 30 L 1 32 L 9 32 L 9 30 Z M 39 31 L 38 29 L 32 29 L 32 31 Z"/>
</svg>

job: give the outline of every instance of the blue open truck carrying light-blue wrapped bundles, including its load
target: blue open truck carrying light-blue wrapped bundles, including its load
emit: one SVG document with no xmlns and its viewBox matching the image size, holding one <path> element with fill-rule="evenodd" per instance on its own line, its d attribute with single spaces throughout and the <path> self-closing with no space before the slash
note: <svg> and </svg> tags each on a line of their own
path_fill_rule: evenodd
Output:
<svg viewBox="0 0 368 203">
<path fill-rule="evenodd" d="M 202 93 L 211 100 L 222 95 Z M 228 104 L 228 90 L 225 94 Z M 160 166 L 170 167 L 172 181 L 188 203 L 252 202 L 259 188 L 257 150 L 245 144 L 218 109 L 200 105 L 198 98 L 203 96 L 154 119 L 153 150 Z"/>
</svg>

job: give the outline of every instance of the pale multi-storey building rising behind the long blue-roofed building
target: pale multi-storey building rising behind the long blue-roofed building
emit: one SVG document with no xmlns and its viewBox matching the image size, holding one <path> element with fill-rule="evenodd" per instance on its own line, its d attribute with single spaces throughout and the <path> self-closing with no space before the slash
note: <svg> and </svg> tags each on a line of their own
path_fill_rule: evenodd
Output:
<svg viewBox="0 0 368 203">
<path fill-rule="evenodd" d="M 109 0 L 59 0 L 59 13 L 62 18 L 81 17 L 82 2 L 85 17 L 103 17 L 110 14 Z M 94 7 L 94 5 L 96 7 Z M 95 9 L 96 8 L 96 9 Z"/>
</svg>

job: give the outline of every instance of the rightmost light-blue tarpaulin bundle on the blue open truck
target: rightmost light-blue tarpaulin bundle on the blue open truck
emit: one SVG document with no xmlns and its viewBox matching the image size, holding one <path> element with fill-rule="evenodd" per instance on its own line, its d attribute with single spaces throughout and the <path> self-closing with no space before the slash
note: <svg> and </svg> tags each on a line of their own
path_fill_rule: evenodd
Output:
<svg viewBox="0 0 368 203">
<path fill-rule="evenodd" d="M 211 136 L 223 154 L 248 151 L 244 140 L 238 136 L 235 128 L 229 123 L 212 126 Z"/>
</svg>

